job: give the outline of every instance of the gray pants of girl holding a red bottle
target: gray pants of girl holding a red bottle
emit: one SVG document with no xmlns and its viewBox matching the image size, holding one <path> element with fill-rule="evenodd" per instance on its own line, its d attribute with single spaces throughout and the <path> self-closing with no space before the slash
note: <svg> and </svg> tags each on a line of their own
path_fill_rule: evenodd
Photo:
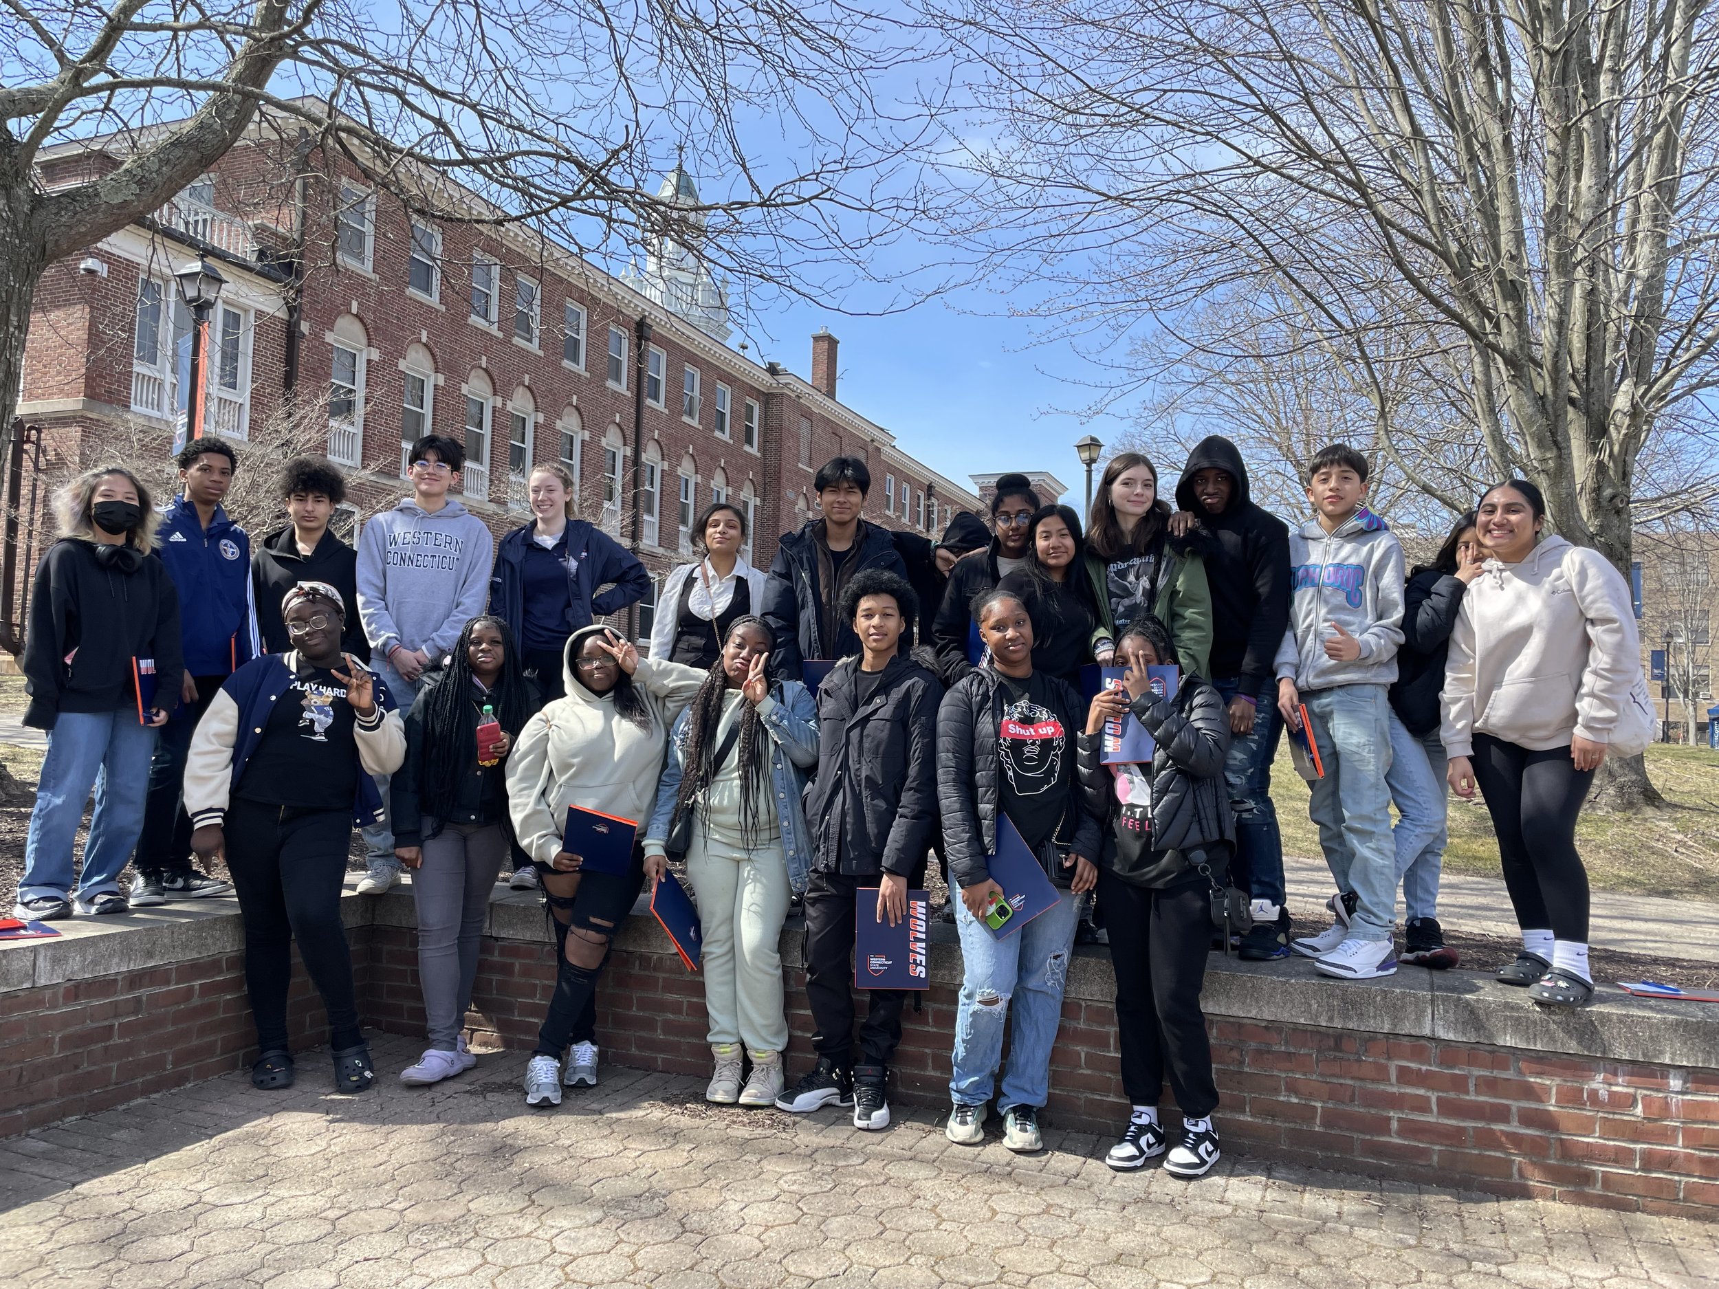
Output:
<svg viewBox="0 0 1719 1289">
<path fill-rule="evenodd" d="M 411 883 L 418 904 L 418 978 L 430 1047 L 452 1052 L 471 1007 L 478 942 L 507 858 L 507 835 L 500 823 L 445 823 L 423 851 L 423 866 Z"/>
</svg>

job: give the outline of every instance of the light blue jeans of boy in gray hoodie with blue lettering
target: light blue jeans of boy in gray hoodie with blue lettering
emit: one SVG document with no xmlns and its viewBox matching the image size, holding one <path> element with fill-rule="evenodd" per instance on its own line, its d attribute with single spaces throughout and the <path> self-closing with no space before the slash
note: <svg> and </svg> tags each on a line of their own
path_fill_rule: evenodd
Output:
<svg viewBox="0 0 1719 1289">
<path fill-rule="evenodd" d="M 1318 825 L 1337 890 L 1355 892 L 1351 935 L 1389 940 L 1396 926 L 1396 847 L 1391 842 L 1391 703 L 1382 684 L 1339 684 L 1303 693 L 1317 725 L 1325 777 L 1312 784 L 1308 813 Z"/>
</svg>

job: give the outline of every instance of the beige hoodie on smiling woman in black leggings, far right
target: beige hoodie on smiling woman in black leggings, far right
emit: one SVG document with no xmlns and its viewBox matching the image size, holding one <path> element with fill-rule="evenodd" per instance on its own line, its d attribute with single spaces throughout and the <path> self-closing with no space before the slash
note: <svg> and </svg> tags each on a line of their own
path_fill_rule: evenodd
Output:
<svg viewBox="0 0 1719 1289">
<path fill-rule="evenodd" d="M 1549 536 L 1521 564 L 1487 560 L 1463 595 L 1444 674 L 1451 756 L 1473 736 L 1530 751 L 1611 742 L 1642 674 L 1630 586 L 1604 555 Z"/>
</svg>

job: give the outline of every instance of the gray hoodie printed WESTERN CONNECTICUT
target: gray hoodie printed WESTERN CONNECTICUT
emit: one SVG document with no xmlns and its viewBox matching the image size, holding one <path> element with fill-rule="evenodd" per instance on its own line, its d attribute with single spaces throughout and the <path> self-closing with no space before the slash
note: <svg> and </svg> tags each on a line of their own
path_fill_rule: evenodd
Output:
<svg viewBox="0 0 1719 1289">
<path fill-rule="evenodd" d="M 431 662 L 454 648 L 490 598 L 490 526 L 449 500 L 435 514 L 411 497 L 358 538 L 358 615 L 378 658 L 404 644 Z"/>
</svg>

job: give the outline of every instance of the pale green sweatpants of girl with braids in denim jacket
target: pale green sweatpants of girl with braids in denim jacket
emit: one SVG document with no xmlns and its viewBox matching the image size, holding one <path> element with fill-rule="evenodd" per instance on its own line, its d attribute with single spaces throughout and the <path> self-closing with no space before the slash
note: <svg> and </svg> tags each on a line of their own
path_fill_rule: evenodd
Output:
<svg viewBox="0 0 1719 1289">
<path fill-rule="evenodd" d="M 732 839 L 707 837 L 703 820 L 694 818 L 686 877 L 698 895 L 705 937 L 698 971 L 705 978 L 710 1042 L 780 1052 L 787 1047 L 787 1014 L 779 945 L 792 894 L 782 842 L 748 851 Z"/>
</svg>

